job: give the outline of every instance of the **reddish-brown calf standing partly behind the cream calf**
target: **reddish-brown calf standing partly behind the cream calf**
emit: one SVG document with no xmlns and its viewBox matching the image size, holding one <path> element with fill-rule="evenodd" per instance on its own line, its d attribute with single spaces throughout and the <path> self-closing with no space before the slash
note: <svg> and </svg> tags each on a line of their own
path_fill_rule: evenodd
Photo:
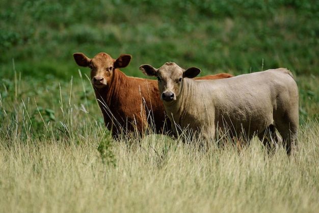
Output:
<svg viewBox="0 0 319 213">
<path fill-rule="evenodd" d="M 126 67 L 130 55 L 121 55 L 113 59 L 103 52 L 93 59 L 82 53 L 73 54 L 77 65 L 91 68 L 91 80 L 104 123 L 112 131 L 113 137 L 122 132 L 143 134 L 146 127 L 158 134 L 171 129 L 171 122 L 166 120 L 163 102 L 159 96 L 156 80 L 126 76 L 119 68 Z M 221 73 L 207 75 L 197 79 L 219 79 L 232 77 Z"/>
</svg>

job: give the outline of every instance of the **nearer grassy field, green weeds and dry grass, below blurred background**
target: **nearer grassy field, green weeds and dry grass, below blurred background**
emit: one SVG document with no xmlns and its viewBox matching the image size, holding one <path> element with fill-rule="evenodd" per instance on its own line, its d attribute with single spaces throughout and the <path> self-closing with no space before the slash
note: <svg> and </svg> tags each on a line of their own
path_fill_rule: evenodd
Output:
<svg viewBox="0 0 319 213">
<path fill-rule="evenodd" d="M 112 141 L 86 77 L 1 93 L 2 212 L 316 212 L 318 78 L 298 77 L 299 150 L 253 140 L 206 151 L 151 134 Z M 33 90 L 38 88 L 38 90 Z M 304 91 L 304 92 L 302 92 Z M 308 91 L 308 93 L 306 92 Z M 316 102 L 314 101 L 316 100 Z M 307 113 L 306 113 L 307 112 Z"/>
</svg>

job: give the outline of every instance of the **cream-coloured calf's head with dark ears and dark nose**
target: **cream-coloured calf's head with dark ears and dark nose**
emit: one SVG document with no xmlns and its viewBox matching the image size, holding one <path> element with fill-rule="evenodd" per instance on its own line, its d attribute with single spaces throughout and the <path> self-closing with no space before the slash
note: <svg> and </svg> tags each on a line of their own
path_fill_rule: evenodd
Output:
<svg viewBox="0 0 319 213">
<path fill-rule="evenodd" d="M 184 70 L 174 62 L 166 62 L 158 69 L 145 64 L 140 66 L 140 70 L 145 75 L 157 77 L 159 93 L 161 94 L 161 99 L 164 101 L 176 100 L 183 85 L 183 78 L 193 78 L 201 72 L 196 67 Z"/>
</svg>

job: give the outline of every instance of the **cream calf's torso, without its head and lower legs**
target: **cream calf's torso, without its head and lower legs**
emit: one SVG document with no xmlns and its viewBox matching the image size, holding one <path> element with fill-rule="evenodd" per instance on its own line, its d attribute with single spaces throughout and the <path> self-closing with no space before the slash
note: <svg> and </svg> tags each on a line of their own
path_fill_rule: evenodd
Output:
<svg viewBox="0 0 319 213">
<path fill-rule="evenodd" d="M 215 136 L 217 126 L 230 127 L 231 135 L 244 130 L 246 136 L 252 136 L 276 125 L 276 116 L 285 114 L 293 114 L 289 116 L 296 125 L 298 88 L 289 73 L 274 69 L 216 81 L 185 79 L 175 107 L 165 109 L 181 127 L 200 130 L 208 126 L 210 137 Z"/>
</svg>

